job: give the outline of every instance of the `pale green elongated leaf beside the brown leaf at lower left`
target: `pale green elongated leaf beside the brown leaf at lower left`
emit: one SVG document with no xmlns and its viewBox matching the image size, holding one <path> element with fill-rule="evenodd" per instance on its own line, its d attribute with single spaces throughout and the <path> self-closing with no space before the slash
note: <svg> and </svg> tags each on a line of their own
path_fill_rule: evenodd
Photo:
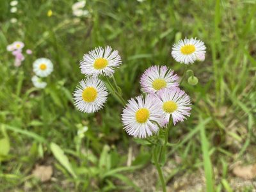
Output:
<svg viewBox="0 0 256 192">
<path fill-rule="evenodd" d="M 51 143 L 50 145 L 52 154 L 54 157 L 66 168 L 66 170 L 76 178 L 76 173 L 74 172 L 70 162 L 68 161 L 68 157 L 64 154 L 63 150 L 56 143 Z"/>
</svg>

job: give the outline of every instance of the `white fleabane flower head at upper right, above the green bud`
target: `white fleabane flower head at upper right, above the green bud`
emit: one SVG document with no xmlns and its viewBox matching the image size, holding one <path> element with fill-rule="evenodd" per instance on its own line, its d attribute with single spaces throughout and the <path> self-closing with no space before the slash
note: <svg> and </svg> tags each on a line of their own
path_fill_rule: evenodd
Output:
<svg viewBox="0 0 256 192">
<path fill-rule="evenodd" d="M 204 42 L 201 40 L 185 38 L 173 45 L 172 56 L 179 63 L 194 63 L 198 59 L 198 55 L 205 54 L 205 49 Z"/>
</svg>

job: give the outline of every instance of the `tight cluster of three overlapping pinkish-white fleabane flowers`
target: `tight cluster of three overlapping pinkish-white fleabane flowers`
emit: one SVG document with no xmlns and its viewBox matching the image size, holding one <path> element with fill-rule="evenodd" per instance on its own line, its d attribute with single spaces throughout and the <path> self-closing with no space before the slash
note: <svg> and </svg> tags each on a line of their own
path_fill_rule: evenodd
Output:
<svg viewBox="0 0 256 192">
<path fill-rule="evenodd" d="M 122 123 L 128 134 L 146 138 L 166 127 L 172 116 L 173 124 L 186 119 L 191 110 L 189 96 L 178 88 L 179 77 L 166 66 L 145 70 L 140 79 L 143 95 L 128 101 L 122 113 Z"/>
</svg>

